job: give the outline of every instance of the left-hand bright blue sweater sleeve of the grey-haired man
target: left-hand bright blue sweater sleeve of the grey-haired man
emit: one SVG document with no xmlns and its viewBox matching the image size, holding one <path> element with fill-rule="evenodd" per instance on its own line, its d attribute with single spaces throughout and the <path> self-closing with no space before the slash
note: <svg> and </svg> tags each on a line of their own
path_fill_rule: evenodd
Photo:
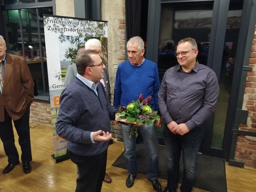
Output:
<svg viewBox="0 0 256 192">
<path fill-rule="evenodd" d="M 113 100 L 114 108 L 118 108 L 121 101 L 121 94 L 122 94 L 121 79 L 120 79 L 121 67 L 122 67 L 122 64 L 120 64 L 117 67 L 117 71 L 116 71 L 116 82 L 115 82 L 114 100 Z"/>
</svg>

